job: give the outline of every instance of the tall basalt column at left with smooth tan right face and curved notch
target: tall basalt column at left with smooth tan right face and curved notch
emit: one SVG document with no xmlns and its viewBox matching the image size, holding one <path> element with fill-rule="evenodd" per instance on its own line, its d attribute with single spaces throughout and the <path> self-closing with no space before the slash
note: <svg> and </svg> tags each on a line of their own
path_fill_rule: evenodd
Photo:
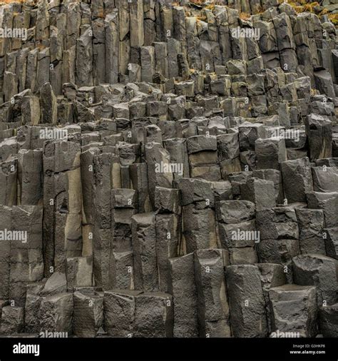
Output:
<svg viewBox="0 0 338 361">
<path fill-rule="evenodd" d="M 46 277 L 55 270 L 63 272 L 67 257 L 81 255 L 80 153 L 80 145 L 70 141 L 46 141 L 43 146 L 43 257 Z"/>
</svg>

